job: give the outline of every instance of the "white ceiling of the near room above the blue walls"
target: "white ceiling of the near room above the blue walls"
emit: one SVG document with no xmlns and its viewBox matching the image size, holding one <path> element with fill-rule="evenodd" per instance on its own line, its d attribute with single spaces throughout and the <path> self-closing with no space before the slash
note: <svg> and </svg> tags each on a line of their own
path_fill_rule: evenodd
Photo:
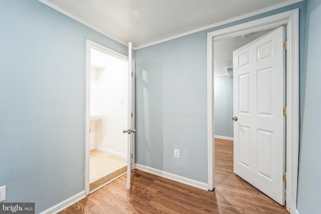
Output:
<svg viewBox="0 0 321 214">
<path fill-rule="evenodd" d="M 38 0 L 133 49 L 302 0 Z"/>
</svg>

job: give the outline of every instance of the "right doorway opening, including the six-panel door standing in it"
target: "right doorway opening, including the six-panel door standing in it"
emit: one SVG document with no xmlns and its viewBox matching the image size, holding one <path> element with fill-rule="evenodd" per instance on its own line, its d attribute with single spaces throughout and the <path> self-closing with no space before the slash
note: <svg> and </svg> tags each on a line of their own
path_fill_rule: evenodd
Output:
<svg viewBox="0 0 321 214">
<path fill-rule="evenodd" d="M 214 42 L 216 192 L 227 190 L 228 181 L 237 186 L 231 193 L 247 191 L 244 199 L 255 194 L 262 198 L 257 205 L 264 198 L 279 209 L 285 195 L 283 32 L 284 26 Z"/>
</svg>

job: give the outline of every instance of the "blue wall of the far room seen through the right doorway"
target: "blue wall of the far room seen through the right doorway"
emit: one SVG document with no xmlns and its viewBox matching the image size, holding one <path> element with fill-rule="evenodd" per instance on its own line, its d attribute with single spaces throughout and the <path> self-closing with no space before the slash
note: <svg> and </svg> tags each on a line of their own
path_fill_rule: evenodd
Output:
<svg viewBox="0 0 321 214">
<path fill-rule="evenodd" d="M 233 137 L 233 78 L 214 77 L 215 135 Z"/>
</svg>

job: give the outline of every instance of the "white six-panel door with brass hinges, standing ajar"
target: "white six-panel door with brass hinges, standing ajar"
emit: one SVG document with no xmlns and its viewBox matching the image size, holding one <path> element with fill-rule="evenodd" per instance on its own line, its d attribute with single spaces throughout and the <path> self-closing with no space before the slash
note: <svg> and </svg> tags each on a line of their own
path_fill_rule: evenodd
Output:
<svg viewBox="0 0 321 214">
<path fill-rule="evenodd" d="M 284 27 L 233 52 L 234 172 L 284 205 Z"/>
</svg>

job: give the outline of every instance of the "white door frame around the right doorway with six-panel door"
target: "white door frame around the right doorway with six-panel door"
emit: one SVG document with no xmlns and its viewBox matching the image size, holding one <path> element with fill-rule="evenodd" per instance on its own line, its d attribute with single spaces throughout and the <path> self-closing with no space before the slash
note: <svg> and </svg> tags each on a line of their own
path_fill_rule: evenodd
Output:
<svg viewBox="0 0 321 214">
<path fill-rule="evenodd" d="M 296 209 L 299 149 L 299 11 L 298 9 L 265 17 L 207 35 L 207 127 L 208 189 L 214 189 L 214 41 L 287 25 L 286 56 L 286 209 Z"/>
</svg>

